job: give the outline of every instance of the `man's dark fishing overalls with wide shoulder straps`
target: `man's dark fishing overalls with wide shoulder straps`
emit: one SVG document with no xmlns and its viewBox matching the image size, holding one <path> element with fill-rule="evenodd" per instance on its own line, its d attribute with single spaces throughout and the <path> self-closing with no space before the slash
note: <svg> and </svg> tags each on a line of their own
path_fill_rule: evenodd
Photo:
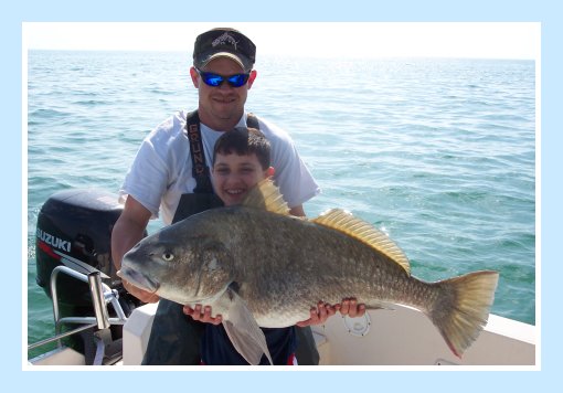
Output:
<svg viewBox="0 0 563 393">
<path fill-rule="evenodd" d="M 248 114 L 247 126 L 259 129 L 256 116 Z M 193 193 L 182 194 L 172 223 L 192 214 L 223 205 L 213 192 L 210 170 L 205 164 L 198 110 L 187 116 L 185 136 L 190 142 L 192 176 L 196 185 Z M 183 314 L 183 306 L 160 299 L 142 364 L 146 365 L 195 365 L 200 364 L 200 339 L 205 325 Z M 317 365 L 319 353 L 309 327 L 297 328 L 298 347 L 296 358 L 299 364 Z"/>
</svg>

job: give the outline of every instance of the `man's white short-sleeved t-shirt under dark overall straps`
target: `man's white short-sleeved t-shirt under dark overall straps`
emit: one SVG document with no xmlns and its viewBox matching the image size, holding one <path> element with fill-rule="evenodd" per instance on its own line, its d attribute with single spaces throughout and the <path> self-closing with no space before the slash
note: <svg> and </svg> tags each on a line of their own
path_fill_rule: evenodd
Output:
<svg viewBox="0 0 563 393">
<path fill-rule="evenodd" d="M 180 197 L 193 192 L 190 144 L 184 134 L 185 116 L 179 111 L 153 129 L 142 141 L 119 190 L 119 200 L 132 195 L 147 208 L 152 217 L 162 215 L 164 224 L 174 216 Z M 302 204 L 320 192 L 311 173 L 301 161 L 289 135 L 280 128 L 258 119 L 259 129 L 272 146 L 274 180 L 290 208 Z M 246 114 L 236 127 L 246 126 Z M 223 132 L 201 124 L 205 162 L 211 166 L 213 147 Z"/>
</svg>

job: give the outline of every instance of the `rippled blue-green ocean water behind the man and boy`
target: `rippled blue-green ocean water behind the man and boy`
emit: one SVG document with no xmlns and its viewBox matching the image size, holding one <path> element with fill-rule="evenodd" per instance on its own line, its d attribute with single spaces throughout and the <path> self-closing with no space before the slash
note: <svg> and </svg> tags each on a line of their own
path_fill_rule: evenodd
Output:
<svg viewBox="0 0 563 393">
<path fill-rule="evenodd" d="M 195 108 L 189 53 L 28 53 L 28 342 L 54 332 L 35 224 L 54 192 L 117 192 L 142 138 Z M 492 312 L 535 323 L 533 61 L 258 57 L 246 108 L 285 128 L 322 194 L 387 233 L 413 275 L 500 272 Z M 160 222 L 152 222 L 156 231 Z"/>
</svg>

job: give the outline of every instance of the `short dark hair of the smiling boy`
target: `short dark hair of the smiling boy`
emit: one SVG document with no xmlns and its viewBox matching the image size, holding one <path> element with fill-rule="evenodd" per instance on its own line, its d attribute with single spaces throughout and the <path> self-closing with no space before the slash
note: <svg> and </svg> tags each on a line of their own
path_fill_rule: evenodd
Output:
<svg viewBox="0 0 563 393">
<path fill-rule="evenodd" d="M 246 156 L 255 153 L 262 169 L 269 168 L 269 142 L 256 128 L 236 127 L 232 131 L 224 132 L 215 142 L 213 149 L 213 164 L 219 155 Z"/>
</svg>

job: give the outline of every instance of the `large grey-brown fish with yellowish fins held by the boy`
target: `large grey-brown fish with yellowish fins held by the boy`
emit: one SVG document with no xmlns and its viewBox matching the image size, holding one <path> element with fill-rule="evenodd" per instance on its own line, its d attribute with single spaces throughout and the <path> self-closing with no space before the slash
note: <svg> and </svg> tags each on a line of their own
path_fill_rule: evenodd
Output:
<svg viewBox="0 0 563 393">
<path fill-rule="evenodd" d="M 242 205 L 192 215 L 144 238 L 125 255 L 120 276 L 182 305 L 211 305 L 236 350 L 257 364 L 263 353 L 272 363 L 258 327 L 293 326 L 319 300 L 347 297 L 368 308 L 421 310 L 460 357 L 487 322 L 499 275 L 425 283 L 371 224 L 338 209 L 294 217 L 264 181 Z"/>
</svg>

